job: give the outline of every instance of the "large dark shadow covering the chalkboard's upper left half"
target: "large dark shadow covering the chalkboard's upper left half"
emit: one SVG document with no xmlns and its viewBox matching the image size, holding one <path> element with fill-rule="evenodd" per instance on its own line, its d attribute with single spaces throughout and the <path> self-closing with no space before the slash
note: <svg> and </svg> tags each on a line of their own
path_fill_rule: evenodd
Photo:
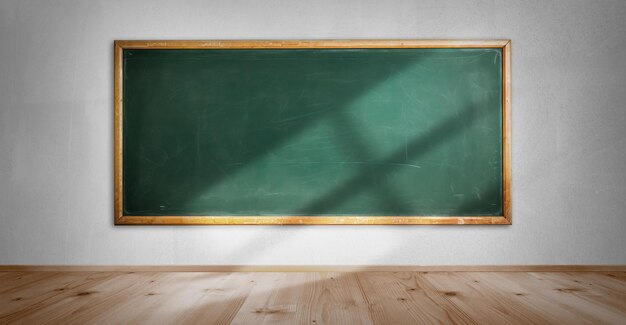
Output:
<svg viewBox="0 0 626 325">
<path fill-rule="evenodd" d="M 125 67 L 135 82 L 124 84 L 125 94 L 138 94 L 125 97 L 123 163 L 125 171 L 135 171 L 124 174 L 126 215 L 206 214 L 190 213 L 189 200 L 420 59 L 403 56 L 372 69 L 372 60 L 380 58 L 354 60 L 354 52 L 350 60 L 328 50 L 304 60 L 276 60 L 290 51 L 254 51 L 259 57 L 248 61 L 210 57 L 219 64 L 208 66 L 202 57 L 173 65 L 166 53 L 135 53 Z M 146 64 L 158 69 L 145 73 Z M 241 77 L 232 71 L 254 72 Z M 199 76 L 202 92 L 194 90 L 198 84 L 189 74 Z"/>
</svg>

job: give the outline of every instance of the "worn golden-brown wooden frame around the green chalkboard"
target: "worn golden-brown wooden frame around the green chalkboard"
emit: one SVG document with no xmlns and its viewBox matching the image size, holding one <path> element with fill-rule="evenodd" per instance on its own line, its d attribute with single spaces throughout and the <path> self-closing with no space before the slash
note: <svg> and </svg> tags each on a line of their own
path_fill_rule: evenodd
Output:
<svg viewBox="0 0 626 325">
<path fill-rule="evenodd" d="M 123 51 L 125 49 L 302 49 L 302 48 L 499 48 L 502 49 L 502 216 L 124 216 L 122 196 Z M 511 218 L 511 41 L 510 40 L 211 40 L 115 41 L 114 167 L 116 225 L 437 225 L 501 224 Z"/>
</svg>

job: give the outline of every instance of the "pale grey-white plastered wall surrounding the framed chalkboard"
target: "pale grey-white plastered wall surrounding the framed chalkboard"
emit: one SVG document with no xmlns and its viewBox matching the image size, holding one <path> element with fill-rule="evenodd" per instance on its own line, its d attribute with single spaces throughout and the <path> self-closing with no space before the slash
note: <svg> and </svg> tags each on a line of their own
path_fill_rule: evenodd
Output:
<svg viewBox="0 0 626 325">
<path fill-rule="evenodd" d="M 0 1 L 0 264 L 626 264 L 626 1 Z M 114 39 L 510 38 L 512 226 L 113 226 Z"/>
</svg>

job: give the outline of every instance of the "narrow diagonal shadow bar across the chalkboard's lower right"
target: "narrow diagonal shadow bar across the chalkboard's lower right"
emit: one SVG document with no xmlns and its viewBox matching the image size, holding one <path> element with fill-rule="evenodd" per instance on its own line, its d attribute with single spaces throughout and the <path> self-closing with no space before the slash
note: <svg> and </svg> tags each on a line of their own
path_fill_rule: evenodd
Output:
<svg viewBox="0 0 626 325">
<path fill-rule="evenodd" d="M 483 114 L 475 114 L 475 107 L 475 104 L 467 105 L 457 115 L 447 118 L 434 129 L 428 130 L 424 136 L 412 140 L 407 144 L 406 148 L 398 148 L 387 157 L 377 161 L 376 164 L 388 165 L 388 171 L 393 172 L 400 168 L 399 163 L 406 161 L 407 157 L 414 160 L 426 154 L 428 151 L 433 150 L 459 133 L 464 127 L 475 123 L 478 119 L 485 116 Z M 407 152 L 409 154 L 407 154 Z M 301 209 L 301 213 L 321 214 L 324 211 L 331 210 L 340 205 L 347 198 L 356 193 L 368 188 L 375 188 L 379 186 L 379 184 L 380 180 L 372 176 L 372 168 L 365 166 L 346 182 L 307 204 Z M 461 213 L 462 211 L 459 212 Z"/>
</svg>

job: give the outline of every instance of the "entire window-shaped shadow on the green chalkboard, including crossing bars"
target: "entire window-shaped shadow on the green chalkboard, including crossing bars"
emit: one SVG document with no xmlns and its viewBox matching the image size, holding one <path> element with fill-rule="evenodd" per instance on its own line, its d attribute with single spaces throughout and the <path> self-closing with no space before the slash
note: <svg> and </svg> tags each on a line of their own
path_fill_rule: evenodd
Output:
<svg viewBox="0 0 626 325">
<path fill-rule="evenodd" d="M 260 70 L 246 66 L 245 61 L 233 61 L 206 71 L 194 70 L 196 66 L 192 64 L 196 61 L 190 61 L 189 66 L 183 61 L 176 71 L 168 72 L 173 74 L 168 74 L 168 85 L 174 86 L 166 87 L 163 93 L 150 92 L 145 99 L 148 101 L 145 104 L 162 105 L 162 111 L 169 115 L 135 117 L 133 121 L 140 121 L 138 127 L 124 131 L 135 132 L 128 141 L 136 141 L 134 146 L 129 146 L 135 150 L 125 152 L 125 168 L 129 164 L 130 170 L 136 171 L 125 173 L 129 180 L 125 181 L 125 214 L 206 215 L 201 211 L 206 207 L 203 196 L 210 194 L 213 187 L 234 177 L 241 169 L 253 167 L 257 159 L 271 155 L 276 147 L 320 119 L 330 122 L 334 130 L 352 130 L 342 132 L 336 140 L 356 160 L 367 160 L 375 148 L 371 148 L 365 135 L 356 132 L 361 129 L 356 125 L 358 121 L 352 120 L 345 110 L 379 83 L 419 61 L 419 57 L 405 58 L 384 69 L 364 69 L 362 62 L 330 64 L 315 60 L 290 63 L 284 68 L 285 62 L 268 61 Z M 237 69 L 246 71 L 245 78 L 233 73 Z M 186 75 L 190 73 L 198 77 L 196 84 L 189 83 Z M 219 81 L 214 75 L 220 76 Z M 146 89 L 151 86 L 161 89 L 158 86 L 162 79 L 146 77 L 142 82 L 149 84 Z M 426 134 L 408 139 L 406 146 L 372 164 L 355 167 L 355 176 L 311 202 L 303 202 L 295 213 L 289 214 L 332 214 L 341 203 L 369 190 L 375 193 L 383 211 L 414 215 L 414 209 L 400 199 L 402 193 L 387 183 L 385 175 L 394 173 L 410 160 L 419 159 L 484 116 L 473 114 L 482 103 L 465 105 L 455 116 L 426 130 Z M 153 141 L 154 138 L 157 140 Z M 146 144 L 140 139 L 149 141 Z M 377 168 L 380 165 L 386 168 Z M 478 203 L 469 202 L 466 207 L 474 208 Z"/>
</svg>

